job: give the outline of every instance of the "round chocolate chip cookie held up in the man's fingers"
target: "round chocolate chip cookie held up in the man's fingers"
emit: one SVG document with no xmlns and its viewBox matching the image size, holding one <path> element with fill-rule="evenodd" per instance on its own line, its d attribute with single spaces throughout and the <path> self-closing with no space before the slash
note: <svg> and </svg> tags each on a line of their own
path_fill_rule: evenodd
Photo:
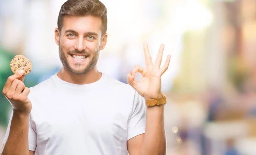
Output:
<svg viewBox="0 0 256 155">
<path fill-rule="evenodd" d="M 17 71 L 23 70 L 24 75 L 29 74 L 32 69 L 32 64 L 28 58 L 23 55 L 16 55 L 11 63 L 10 67 L 12 72 L 15 74 Z"/>
</svg>

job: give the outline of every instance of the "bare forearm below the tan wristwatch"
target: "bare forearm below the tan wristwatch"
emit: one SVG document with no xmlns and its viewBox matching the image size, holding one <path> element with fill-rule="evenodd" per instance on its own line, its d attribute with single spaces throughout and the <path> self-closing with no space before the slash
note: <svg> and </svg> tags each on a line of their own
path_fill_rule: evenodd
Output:
<svg viewBox="0 0 256 155">
<path fill-rule="evenodd" d="M 139 155 L 165 155 L 166 138 L 163 121 L 163 105 L 148 107 L 146 129 Z"/>
</svg>

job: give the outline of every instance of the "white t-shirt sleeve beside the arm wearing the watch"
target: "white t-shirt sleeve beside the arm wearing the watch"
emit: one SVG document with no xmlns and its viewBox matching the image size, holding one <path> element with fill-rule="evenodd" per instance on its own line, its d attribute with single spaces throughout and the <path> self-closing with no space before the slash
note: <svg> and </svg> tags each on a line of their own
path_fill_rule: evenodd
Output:
<svg viewBox="0 0 256 155">
<path fill-rule="evenodd" d="M 132 113 L 128 120 L 127 141 L 137 135 L 145 133 L 145 125 L 145 99 L 135 92 Z"/>
</svg>

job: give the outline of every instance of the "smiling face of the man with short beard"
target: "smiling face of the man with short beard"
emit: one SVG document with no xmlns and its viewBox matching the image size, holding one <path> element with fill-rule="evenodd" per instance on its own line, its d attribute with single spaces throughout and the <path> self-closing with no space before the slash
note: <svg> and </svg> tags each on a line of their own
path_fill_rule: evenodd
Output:
<svg viewBox="0 0 256 155">
<path fill-rule="evenodd" d="M 99 58 L 104 49 L 107 34 L 102 36 L 102 20 L 93 16 L 66 16 L 61 32 L 55 29 L 55 42 L 59 46 L 59 57 L 63 66 L 74 74 L 85 74 Z"/>
</svg>

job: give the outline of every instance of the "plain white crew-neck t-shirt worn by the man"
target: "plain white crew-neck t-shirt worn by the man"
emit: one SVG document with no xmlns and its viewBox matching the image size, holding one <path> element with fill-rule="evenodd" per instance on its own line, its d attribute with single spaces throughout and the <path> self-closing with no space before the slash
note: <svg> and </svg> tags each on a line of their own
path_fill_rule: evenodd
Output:
<svg viewBox="0 0 256 155">
<path fill-rule="evenodd" d="M 127 155 L 127 141 L 145 133 L 144 98 L 104 73 L 85 85 L 53 75 L 31 87 L 28 98 L 29 150 L 35 155 Z"/>
</svg>

